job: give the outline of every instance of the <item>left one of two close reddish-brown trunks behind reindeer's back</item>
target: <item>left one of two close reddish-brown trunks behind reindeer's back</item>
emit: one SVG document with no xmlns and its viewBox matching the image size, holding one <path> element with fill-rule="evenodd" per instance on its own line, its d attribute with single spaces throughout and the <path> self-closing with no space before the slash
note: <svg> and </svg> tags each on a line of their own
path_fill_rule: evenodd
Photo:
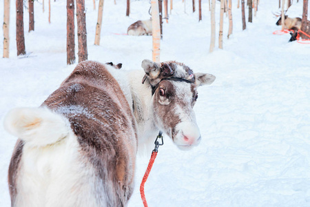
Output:
<svg viewBox="0 0 310 207">
<path fill-rule="evenodd" d="M 67 0 L 67 64 L 75 63 L 74 0 Z"/>
</svg>

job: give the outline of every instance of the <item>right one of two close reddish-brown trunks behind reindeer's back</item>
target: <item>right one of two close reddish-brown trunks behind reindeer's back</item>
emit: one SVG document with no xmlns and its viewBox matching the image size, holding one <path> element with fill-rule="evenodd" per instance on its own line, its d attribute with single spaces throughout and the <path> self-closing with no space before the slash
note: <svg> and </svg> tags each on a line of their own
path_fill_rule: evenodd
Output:
<svg viewBox="0 0 310 207">
<path fill-rule="evenodd" d="M 79 63 L 87 60 L 87 32 L 85 19 L 85 1 L 76 0 L 76 22 L 79 43 Z"/>
</svg>

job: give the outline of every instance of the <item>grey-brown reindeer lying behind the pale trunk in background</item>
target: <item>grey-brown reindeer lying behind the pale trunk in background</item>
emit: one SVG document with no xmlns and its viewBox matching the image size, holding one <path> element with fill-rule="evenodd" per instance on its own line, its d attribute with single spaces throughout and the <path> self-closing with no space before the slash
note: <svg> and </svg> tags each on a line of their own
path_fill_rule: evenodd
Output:
<svg viewBox="0 0 310 207">
<path fill-rule="evenodd" d="M 152 35 L 152 19 L 139 20 L 132 23 L 127 29 L 128 35 Z"/>
</svg>

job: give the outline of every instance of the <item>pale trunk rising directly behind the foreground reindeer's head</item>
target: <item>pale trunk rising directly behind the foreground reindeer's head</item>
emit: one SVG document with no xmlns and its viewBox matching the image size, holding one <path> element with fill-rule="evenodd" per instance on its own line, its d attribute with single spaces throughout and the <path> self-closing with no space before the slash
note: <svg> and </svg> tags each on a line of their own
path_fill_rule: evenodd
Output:
<svg viewBox="0 0 310 207">
<path fill-rule="evenodd" d="M 160 62 L 161 56 L 161 26 L 159 23 L 159 9 L 158 0 L 151 1 L 152 9 L 152 39 L 153 39 L 153 51 L 152 60 L 154 62 Z"/>
</svg>

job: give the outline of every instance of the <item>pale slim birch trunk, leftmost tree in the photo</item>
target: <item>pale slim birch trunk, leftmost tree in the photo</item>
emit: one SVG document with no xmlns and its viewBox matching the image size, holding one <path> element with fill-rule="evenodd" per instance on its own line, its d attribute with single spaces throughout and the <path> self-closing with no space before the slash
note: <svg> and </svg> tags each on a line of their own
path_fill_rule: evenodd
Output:
<svg viewBox="0 0 310 207">
<path fill-rule="evenodd" d="M 10 57 L 10 0 L 4 0 L 3 10 L 3 57 Z"/>
</svg>

